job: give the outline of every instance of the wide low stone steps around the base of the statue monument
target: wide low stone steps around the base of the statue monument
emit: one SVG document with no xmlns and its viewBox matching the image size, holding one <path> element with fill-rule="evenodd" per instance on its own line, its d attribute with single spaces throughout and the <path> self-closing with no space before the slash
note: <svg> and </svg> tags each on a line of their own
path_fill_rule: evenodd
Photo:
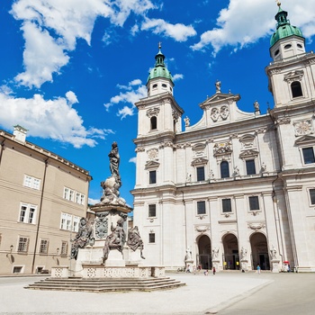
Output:
<svg viewBox="0 0 315 315">
<path fill-rule="evenodd" d="M 174 289 L 185 284 L 168 277 L 146 279 L 141 278 L 46 278 L 25 289 L 80 291 L 80 292 L 112 292 L 112 291 L 154 291 Z"/>
</svg>

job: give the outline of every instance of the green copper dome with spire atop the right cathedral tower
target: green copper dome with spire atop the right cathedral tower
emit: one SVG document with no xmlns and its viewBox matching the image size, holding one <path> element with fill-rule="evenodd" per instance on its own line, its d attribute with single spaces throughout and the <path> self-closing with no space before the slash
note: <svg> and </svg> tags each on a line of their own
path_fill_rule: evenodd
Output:
<svg viewBox="0 0 315 315">
<path fill-rule="evenodd" d="M 286 18 L 288 13 L 281 8 L 280 4 L 278 5 L 279 11 L 275 15 L 277 22 L 276 31 L 270 40 L 270 47 L 273 47 L 278 40 L 289 36 L 295 35 L 303 38 L 302 31 L 298 27 L 290 24 L 290 21 Z"/>
</svg>

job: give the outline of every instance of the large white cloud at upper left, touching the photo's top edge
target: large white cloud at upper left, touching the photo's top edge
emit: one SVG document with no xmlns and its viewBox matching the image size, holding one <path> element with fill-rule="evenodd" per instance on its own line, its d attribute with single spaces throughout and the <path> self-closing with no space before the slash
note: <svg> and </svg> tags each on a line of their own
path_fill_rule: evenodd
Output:
<svg viewBox="0 0 315 315">
<path fill-rule="evenodd" d="M 67 65 L 67 53 L 76 49 L 76 40 L 90 44 L 97 17 L 122 26 L 131 12 L 142 16 L 157 8 L 150 0 L 17 0 L 11 14 L 22 21 L 25 40 L 24 72 L 15 77 L 20 85 L 40 87 Z M 107 35 L 106 35 L 107 34 Z M 103 41 L 108 42 L 108 33 Z"/>
</svg>

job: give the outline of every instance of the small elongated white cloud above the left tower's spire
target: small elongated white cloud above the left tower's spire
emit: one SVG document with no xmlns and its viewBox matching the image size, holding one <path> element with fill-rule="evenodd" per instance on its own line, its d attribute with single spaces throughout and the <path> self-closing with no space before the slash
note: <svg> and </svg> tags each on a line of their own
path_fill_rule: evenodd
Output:
<svg viewBox="0 0 315 315">
<path fill-rule="evenodd" d="M 151 30 L 155 34 L 163 34 L 164 36 L 171 37 L 176 41 L 185 41 L 189 37 L 195 36 L 197 34 L 194 31 L 192 25 L 184 25 L 182 23 L 166 23 L 162 19 L 148 19 L 145 18 L 145 21 L 141 24 L 142 31 Z"/>
</svg>

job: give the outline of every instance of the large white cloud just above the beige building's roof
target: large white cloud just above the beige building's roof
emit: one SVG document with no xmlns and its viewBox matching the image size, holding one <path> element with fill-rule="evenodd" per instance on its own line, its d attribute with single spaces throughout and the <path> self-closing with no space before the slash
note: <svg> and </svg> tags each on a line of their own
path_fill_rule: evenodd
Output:
<svg viewBox="0 0 315 315">
<path fill-rule="evenodd" d="M 28 134 L 43 139 L 55 139 L 72 144 L 75 148 L 84 145 L 94 147 L 96 139 L 105 139 L 112 130 L 85 129 L 83 120 L 72 108 L 77 103 L 76 94 L 68 91 L 66 97 L 45 100 L 42 95 L 32 98 L 16 98 L 0 90 L 0 124 L 10 130 L 15 124 L 26 128 Z"/>
</svg>

